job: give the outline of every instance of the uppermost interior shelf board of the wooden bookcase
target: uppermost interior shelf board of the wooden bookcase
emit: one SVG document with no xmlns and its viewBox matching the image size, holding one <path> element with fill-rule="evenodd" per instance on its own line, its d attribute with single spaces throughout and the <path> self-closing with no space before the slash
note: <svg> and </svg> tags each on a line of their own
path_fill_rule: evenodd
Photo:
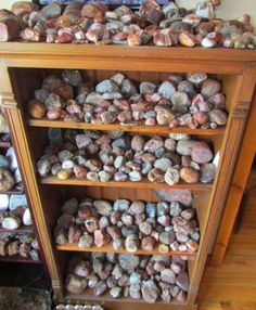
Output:
<svg viewBox="0 0 256 310">
<path fill-rule="evenodd" d="M 88 129 L 88 130 L 105 130 L 105 131 L 127 131 L 140 133 L 188 133 L 201 135 L 223 135 L 225 127 L 217 129 L 191 129 L 189 127 L 169 128 L 167 126 L 145 126 L 145 125 L 120 125 L 116 124 L 87 124 L 72 122 L 63 120 L 29 119 L 28 125 L 33 127 L 51 127 L 51 128 L 72 128 L 72 129 Z"/>
</svg>

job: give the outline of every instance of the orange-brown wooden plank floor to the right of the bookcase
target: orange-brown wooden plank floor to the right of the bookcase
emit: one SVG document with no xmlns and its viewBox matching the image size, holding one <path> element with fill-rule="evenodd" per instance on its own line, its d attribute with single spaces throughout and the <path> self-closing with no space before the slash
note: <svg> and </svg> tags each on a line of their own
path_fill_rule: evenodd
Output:
<svg viewBox="0 0 256 310">
<path fill-rule="evenodd" d="M 200 310 L 256 310 L 256 190 L 249 193 L 242 225 L 233 234 L 221 267 L 207 267 Z"/>
</svg>

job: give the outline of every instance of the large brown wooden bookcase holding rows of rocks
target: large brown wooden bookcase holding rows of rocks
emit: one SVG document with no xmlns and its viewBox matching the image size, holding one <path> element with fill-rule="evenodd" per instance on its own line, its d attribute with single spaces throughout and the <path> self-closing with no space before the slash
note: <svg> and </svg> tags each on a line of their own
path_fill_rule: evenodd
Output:
<svg viewBox="0 0 256 310">
<path fill-rule="evenodd" d="M 213 244 L 222 207 L 225 205 L 236 155 L 241 146 L 244 126 L 249 113 L 256 79 L 255 51 L 225 49 L 183 49 L 153 47 L 100 47 L 75 44 L 46 44 L 10 42 L 0 44 L 0 93 L 7 109 L 11 133 L 16 153 L 25 177 L 25 183 L 33 204 L 37 225 L 47 263 L 50 270 L 54 296 L 57 301 L 102 302 L 107 309 L 196 309 L 196 297 L 201 276 L 204 270 L 210 245 Z M 77 68 L 86 73 L 93 81 L 111 77 L 115 72 L 124 72 L 135 80 L 163 80 L 169 73 L 205 72 L 216 74 L 222 80 L 227 95 L 229 120 L 225 129 L 202 130 L 165 127 L 125 127 L 120 125 L 90 125 L 47 119 L 29 119 L 26 106 L 33 92 L 42 78 L 49 74 L 59 74 L 60 69 Z M 181 132 L 194 134 L 212 143 L 215 154 L 220 152 L 220 160 L 213 184 L 179 183 L 174 188 L 189 189 L 194 195 L 194 207 L 197 211 L 201 229 L 200 248 L 190 255 L 188 260 L 190 289 L 185 303 L 156 302 L 148 305 L 131 298 L 100 298 L 92 294 L 68 295 L 64 289 L 67 261 L 74 251 L 80 250 L 76 245 L 55 246 L 52 238 L 53 227 L 61 214 L 60 204 L 63 193 L 78 198 L 85 195 L 116 199 L 154 201 L 155 189 L 168 189 L 167 184 L 154 184 L 148 181 L 94 183 L 68 179 L 60 181 L 54 178 L 40 179 L 36 172 L 36 160 L 47 143 L 49 127 L 124 130 L 141 134 L 162 134 Z M 143 189 L 143 191 L 141 191 Z M 113 253 L 112 248 L 91 248 L 90 251 Z M 125 253 L 125 250 L 120 250 Z M 140 254 L 143 254 L 140 251 Z M 156 254 L 146 253 L 149 254 Z M 169 253 L 168 255 L 179 255 Z M 187 255 L 187 254 L 183 254 Z M 188 254 L 189 255 L 189 254 Z M 120 306 L 121 305 L 121 306 Z"/>
</svg>

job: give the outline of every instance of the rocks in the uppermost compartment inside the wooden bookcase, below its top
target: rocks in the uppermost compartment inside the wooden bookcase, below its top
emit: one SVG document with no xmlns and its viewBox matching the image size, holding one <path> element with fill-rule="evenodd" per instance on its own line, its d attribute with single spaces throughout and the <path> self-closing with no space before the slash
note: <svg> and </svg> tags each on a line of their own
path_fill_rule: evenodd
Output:
<svg viewBox="0 0 256 310">
<path fill-rule="evenodd" d="M 48 76 L 34 93 L 34 118 L 91 124 L 163 125 L 216 129 L 227 124 L 221 81 L 204 73 L 170 74 L 163 82 L 137 83 L 117 73 L 94 87 L 80 72 Z"/>
</svg>

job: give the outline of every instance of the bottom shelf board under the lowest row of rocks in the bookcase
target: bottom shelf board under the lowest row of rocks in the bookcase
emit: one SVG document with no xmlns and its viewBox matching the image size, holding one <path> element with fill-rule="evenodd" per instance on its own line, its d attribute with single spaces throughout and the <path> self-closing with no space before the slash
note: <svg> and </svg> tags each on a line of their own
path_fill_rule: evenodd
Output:
<svg viewBox="0 0 256 310">
<path fill-rule="evenodd" d="M 80 295 L 75 295 L 75 294 L 66 294 L 65 295 L 65 300 L 94 300 L 94 301 L 116 301 L 116 302 L 131 302 L 131 303 L 145 303 L 145 305 L 151 305 L 145 302 L 142 298 L 141 299 L 133 299 L 131 297 L 121 297 L 121 298 L 113 298 L 108 293 L 105 293 L 101 296 L 94 296 L 93 289 L 87 289 L 85 293 Z M 171 302 L 164 302 L 162 300 L 156 301 L 153 305 L 165 305 L 165 306 L 185 306 L 187 303 L 182 303 L 178 300 L 172 300 Z M 121 306 L 120 306 L 121 308 Z"/>
</svg>

